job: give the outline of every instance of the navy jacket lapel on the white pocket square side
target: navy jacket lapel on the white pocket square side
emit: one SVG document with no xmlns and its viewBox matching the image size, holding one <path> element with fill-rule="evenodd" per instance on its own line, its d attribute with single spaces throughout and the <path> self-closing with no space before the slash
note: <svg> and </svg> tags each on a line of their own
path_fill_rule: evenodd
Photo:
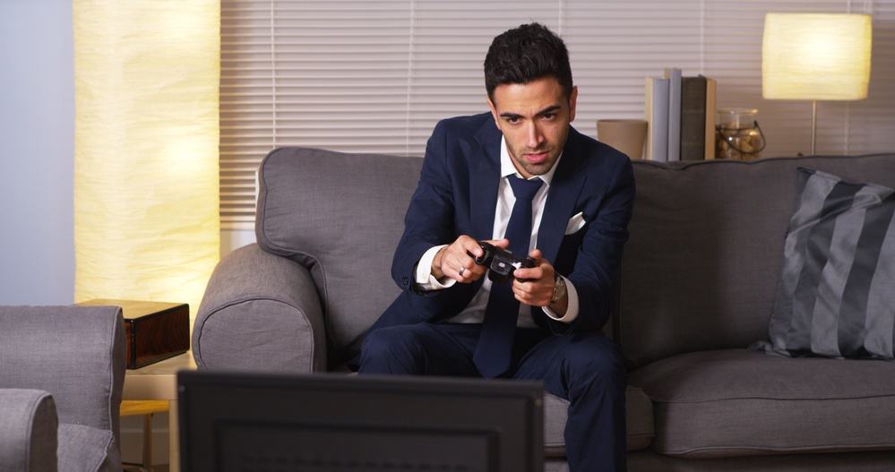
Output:
<svg viewBox="0 0 895 472">
<path fill-rule="evenodd" d="M 584 161 L 577 131 L 569 131 L 569 139 L 563 151 L 563 159 L 550 183 L 541 226 L 538 227 L 538 249 L 551 263 L 556 261 L 559 245 L 565 236 L 565 227 L 572 217 L 575 201 L 584 185 L 584 173 L 579 172 Z"/>
</svg>

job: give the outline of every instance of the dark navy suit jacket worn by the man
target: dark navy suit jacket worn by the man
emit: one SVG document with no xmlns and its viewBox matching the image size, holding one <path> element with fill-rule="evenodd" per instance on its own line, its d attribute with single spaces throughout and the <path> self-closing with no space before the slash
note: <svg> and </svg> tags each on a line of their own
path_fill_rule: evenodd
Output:
<svg viewBox="0 0 895 472">
<path fill-rule="evenodd" d="M 403 292 L 371 330 L 450 319 L 481 287 L 479 279 L 420 291 L 414 284 L 414 271 L 432 246 L 450 244 L 464 234 L 478 240 L 493 236 L 501 137 L 489 113 L 450 118 L 435 126 L 392 262 L 392 278 Z M 572 323 L 555 322 L 539 308 L 532 308 L 531 314 L 539 326 L 557 334 L 598 330 L 607 320 L 628 237 L 633 169 L 624 154 L 573 128 L 558 166 L 547 193 L 537 247 L 555 270 L 572 280 L 579 314 Z M 583 212 L 586 224 L 565 235 L 569 219 L 578 212 Z"/>
</svg>

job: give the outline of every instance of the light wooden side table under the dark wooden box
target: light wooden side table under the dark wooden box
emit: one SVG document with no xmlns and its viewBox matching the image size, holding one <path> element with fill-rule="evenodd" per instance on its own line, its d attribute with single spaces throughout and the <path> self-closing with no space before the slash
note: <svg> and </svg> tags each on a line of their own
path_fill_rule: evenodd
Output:
<svg viewBox="0 0 895 472">
<path fill-rule="evenodd" d="M 168 470 L 180 470 L 180 434 L 177 425 L 177 371 L 195 370 L 193 351 L 140 369 L 125 371 L 123 400 L 168 401 Z"/>
</svg>

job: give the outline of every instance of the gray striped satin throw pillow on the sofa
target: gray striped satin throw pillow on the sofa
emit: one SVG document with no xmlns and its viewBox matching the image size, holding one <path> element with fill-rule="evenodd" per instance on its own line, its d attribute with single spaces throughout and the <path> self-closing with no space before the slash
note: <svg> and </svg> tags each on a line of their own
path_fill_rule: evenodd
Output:
<svg viewBox="0 0 895 472">
<path fill-rule="evenodd" d="M 787 355 L 891 359 L 895 338 L 895 189 L 798 168 L 770 318 Z"/>
</svg>

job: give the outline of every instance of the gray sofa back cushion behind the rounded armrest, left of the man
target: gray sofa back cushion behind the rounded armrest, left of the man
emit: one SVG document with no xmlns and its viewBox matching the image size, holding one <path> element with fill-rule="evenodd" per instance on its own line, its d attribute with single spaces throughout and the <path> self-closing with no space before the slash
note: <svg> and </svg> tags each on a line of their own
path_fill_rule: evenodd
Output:
<svg viewBox="0 0 895 472">
<path fill-rule="evenodd" d="M 392 256 L 423 159 L 280 148 L 261 164 L 258 245 L 314 277 L 331 358 L 398 296 Z"/>
</svg>

